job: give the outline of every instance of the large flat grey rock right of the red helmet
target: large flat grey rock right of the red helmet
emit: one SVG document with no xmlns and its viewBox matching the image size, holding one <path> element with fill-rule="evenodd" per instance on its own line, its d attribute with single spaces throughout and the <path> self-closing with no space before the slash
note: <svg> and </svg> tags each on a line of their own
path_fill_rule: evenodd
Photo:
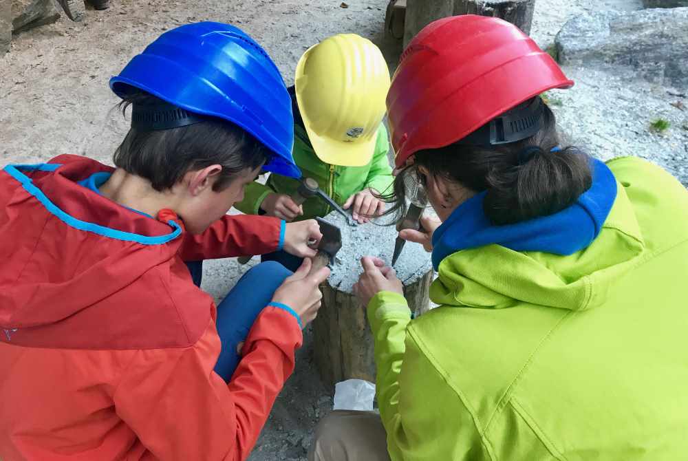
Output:
<svg viewBox="0 0 688 461">
<path fill-rule="evenodd" d="M 601 11 L 570 19 L 557 34 L 564 65 L 623 65 L 652 83 L 688 87 L 688 8 Z"/>
</svg>

